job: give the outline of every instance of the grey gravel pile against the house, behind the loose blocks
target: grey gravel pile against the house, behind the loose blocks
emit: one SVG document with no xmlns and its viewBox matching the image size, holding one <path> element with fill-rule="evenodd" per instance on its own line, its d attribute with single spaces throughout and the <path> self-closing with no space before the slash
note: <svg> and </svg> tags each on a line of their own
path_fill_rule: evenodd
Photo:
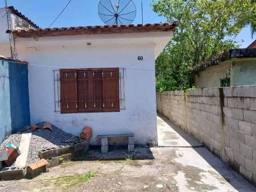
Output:
<svg viewBox="0 0 256 192">
<path fill-rule="evenodd" d="M 41 128 L 44 125 L 44 122 L 37 123 L 36 125 Z M 52 131 L 49 129 L 36 129 L 32 132 L 26 166 L 39 160 L 38 151 L 46 148 L 66 145 L 67 143 L 64 141 L 73 136 L 72 134 L 66 133 L 54 125 L 52 125 L 52 129 Z M 11 143 L 19 147 L 22 133 L 30 132 L 31 130 L 26 130 L 24 132 L 12 134 L 6 140 L 4 140 L 2 144 L 0 144 L 0 148 L 5 148 L 7 143 Z M 15 162 L 13 166 L 14 165 Z"/>
</svg>

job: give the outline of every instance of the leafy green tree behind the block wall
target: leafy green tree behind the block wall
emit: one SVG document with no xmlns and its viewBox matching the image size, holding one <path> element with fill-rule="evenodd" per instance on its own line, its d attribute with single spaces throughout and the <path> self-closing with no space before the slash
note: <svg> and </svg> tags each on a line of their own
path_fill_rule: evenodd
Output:
<svg viewBox="0 0 256 192">
<path fill-rule="evenodd" d="M 168 22 L 178 21 L 174 37 L 156 59 L 157 91 L 191 87 L 202 60 L 237 48 L 232 36 L 256 26 L 255 0 L 158 0 L 152 7 Z"/>
</svg>

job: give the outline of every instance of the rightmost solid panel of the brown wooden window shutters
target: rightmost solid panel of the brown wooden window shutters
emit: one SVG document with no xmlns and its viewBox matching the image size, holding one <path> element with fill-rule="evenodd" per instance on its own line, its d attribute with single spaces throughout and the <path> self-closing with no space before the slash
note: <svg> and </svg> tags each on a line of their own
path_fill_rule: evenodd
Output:
<svg viewBox="0 0 256 192">
<path fill-rule="evenodd" d="M 119 69 L 106 70 L 104 74 L 104 111 L 119 111 Z"/>
</svg>

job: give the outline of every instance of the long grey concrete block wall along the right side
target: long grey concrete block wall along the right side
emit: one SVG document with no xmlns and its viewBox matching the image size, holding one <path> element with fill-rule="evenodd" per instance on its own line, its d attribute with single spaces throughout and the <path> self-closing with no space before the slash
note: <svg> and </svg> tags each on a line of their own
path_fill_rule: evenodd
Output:
<svg viewBox="0 0 256 192">
<path fill-rule="evenodd" d="M 157 110 L 256 186 L 256 85 L 157 93 Z"/>
</svg>

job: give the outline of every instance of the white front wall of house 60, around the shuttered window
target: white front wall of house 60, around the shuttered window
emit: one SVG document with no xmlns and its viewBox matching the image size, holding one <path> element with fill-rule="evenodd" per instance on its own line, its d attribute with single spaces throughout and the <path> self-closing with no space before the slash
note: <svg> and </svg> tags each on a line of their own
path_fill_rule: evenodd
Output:
<svg viewBox="0 0 256 192">
<path fill-rule="evenodd" d="M 71 38 L 70 38 L 71 40 Z M 113 44 L 113 41 L 118 44 Z M 28 61 L 31 123 L 48 121 L 65 132 L 79 135 L 84 126 L 93 130 L 91 144 L 100 144 L 99 134 L 133 132 L 135 144 L 157 142 L 154 43 L 74 44 L 54 42 L 47 47 L 19 48 L 22 60 Z M 39 41 L 38 41 L 39 42 Z M 40 40 L 43 45 L 43 40 Z M 49 41 L 48 41 L 49 43 Z M 58 42 L 61 44 L 62 42 Z M 138 61 L 142 55 L 144 60 Z M 54 112 L 53 70 L 59 68 L 125 68 L 125 110 L 60 114 Z M 116 142 L 116 140 L 113 140 Z M 110 141 L 111 143 L 111 141 Z"/>
</svg>

